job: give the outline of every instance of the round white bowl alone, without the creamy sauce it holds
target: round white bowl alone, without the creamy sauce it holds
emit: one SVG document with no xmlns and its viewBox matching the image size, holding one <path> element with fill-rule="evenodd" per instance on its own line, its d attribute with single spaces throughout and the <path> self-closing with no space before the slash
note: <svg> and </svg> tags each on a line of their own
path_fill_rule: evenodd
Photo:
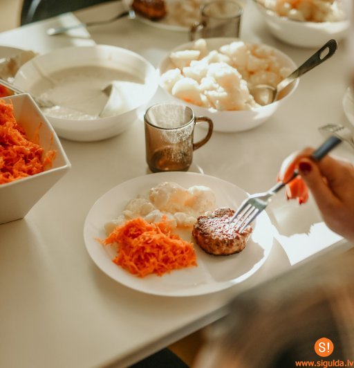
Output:
<svg viewBox="0 0 354 368">
<path fill-rule="evenodd" d="M 40 55 L 19 69 L 14 83 L 31 93 L 39 82 L 50 83 L 50 75 L 53 73 L 82 66 L 102 66 L 107 70 L 115 69 L 115 71 L 127 73 L 142 81 L 145 93 L 138 95 L 132 93 L 129 95 L 131 100 L 127 109 L 123 108 L 120 113 L 105 118 L 77 120 L 58 118 L 46 113 L 58 136 L 62 138 L 92 141 L 120 134 L 136 120 L 138 109 L 145 107 L 158 89 L 156 69 L 146 59 L 124 48 L 106 45 L 72 46 Z M 97 88 L 97 95 L 99 93 L 102 93 L 100 98 L 104 98 L 103 92 Z M 98 108 L 103 106 L 104 103 Z"/>
</svg>

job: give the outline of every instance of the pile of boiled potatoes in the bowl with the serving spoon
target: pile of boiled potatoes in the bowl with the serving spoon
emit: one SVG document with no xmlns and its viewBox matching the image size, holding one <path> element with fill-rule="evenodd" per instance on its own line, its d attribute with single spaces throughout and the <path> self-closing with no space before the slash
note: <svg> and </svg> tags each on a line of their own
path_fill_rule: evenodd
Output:
<svg viewBox="0 0 354 368">
<path fill-rule="evenodd" d="M 160 84 L 174 97 L 216 111 L 250 110 L 260 105 L 250 94 L 250 86 L 277 86 L 290 74 L 274 48 L 230 42 L 217 50 L 208 50 L 205 39 L 188 50 L 169 55 L 170 67 L 162 73 Z"/>
</svg>

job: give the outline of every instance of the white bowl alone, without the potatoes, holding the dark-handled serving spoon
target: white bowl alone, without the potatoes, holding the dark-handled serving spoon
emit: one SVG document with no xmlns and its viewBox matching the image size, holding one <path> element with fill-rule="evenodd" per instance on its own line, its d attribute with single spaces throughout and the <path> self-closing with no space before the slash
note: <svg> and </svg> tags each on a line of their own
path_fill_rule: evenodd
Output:
<svg viewBox="0 0 354 368">
<path fill-rule="evenodd" d="M 209 51 L 217 50 L 221 46 L 230 44 L 235 40 L 236 39 L 234 38 L 223 38 L 223 37 L 205 39 Z M 180 50 L 189 50 L 192 48 L 193 44 L 194 42 L 188 42 L 187 44 L 178 46 L 174 48 L 174 50 L 171 50 L 171 53 Z M 294 71 L 297 68 L 295 62 L 293 62 L 292 59 L 290 59 L 290 57 L 288 57 L 281 51 L 277 50 L 277 48 L 272 49 L 274 50 L 274 55 L 277 56 L 277 59 L 281 64 L 281 66 L 288 66 L 291 71 Z M 169 55 L 171 53 L 169 53 Z M 171 63 L 169 55 L 167 55 L 165 59 L 163 59 L 162 62 L 160 63 L 159 66 L 160 76 L 169 69 L 176 68 L 176 66 L 174 66 Z M 279 106 L 283 104 L 283 102 L 286 101 L 288 97 L 295 91 L 298 84 L 299 80 L 292 82 L 292 84 L 290 84 L 290 86 L 287 87 L 286 95 L 284 95 L 283 98 L 281 98 L 281 100 L 251 110 L 216 111 L 215 109 L 207 109 L 205 107 L 199 107 L 195 104 L 189 104 L 187 102 L 184 103 L 194 110 L 196 116 L 208 116 L 209 118 L 211 118 L 214 122 L 214 131 L 245 131 L 258 127 L 259 125 L 263 124 L 263 122 L 268 120 L 268 118 L 270 118 L 270 116 L 272 116 L 272 114 L 275 111 L 277 111 Z M 161 88 L 163 89 L 162 86 Z M 174 95 L 171 95 L 169 91 L 166 91 L 165 89 L 164 91 L 169 96 L 169 99 L 178 100 L 179 102 L 182 101 L 174 97 Z"/>
</svg>

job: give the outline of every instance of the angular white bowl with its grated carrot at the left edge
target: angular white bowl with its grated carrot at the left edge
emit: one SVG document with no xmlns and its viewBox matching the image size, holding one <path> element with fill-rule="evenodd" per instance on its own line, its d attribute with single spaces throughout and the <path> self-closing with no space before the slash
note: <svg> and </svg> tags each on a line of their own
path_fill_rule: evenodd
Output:
<svg viewBox="0 0 354 368">
<path fill-rule="evenodd" d="M 22 219 L 71 164 L 30 95 L 3 98 L 0 107 L 0 223 L 6 223 Z"/>
</svg>

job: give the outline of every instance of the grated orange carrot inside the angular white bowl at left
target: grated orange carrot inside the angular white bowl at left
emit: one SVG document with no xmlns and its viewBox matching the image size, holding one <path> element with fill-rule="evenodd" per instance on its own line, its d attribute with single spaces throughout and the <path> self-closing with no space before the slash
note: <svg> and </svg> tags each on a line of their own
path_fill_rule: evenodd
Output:
<svg viewBox="0 0 354 368">
<path fill-rule="evenodd" d="M 43 172 L 54 157 L 55 151 L 44 154 L 41 146 L 28 140 L 15 120 L 12 104 L 0 100 L 0 184 Z"/>
</svg>

